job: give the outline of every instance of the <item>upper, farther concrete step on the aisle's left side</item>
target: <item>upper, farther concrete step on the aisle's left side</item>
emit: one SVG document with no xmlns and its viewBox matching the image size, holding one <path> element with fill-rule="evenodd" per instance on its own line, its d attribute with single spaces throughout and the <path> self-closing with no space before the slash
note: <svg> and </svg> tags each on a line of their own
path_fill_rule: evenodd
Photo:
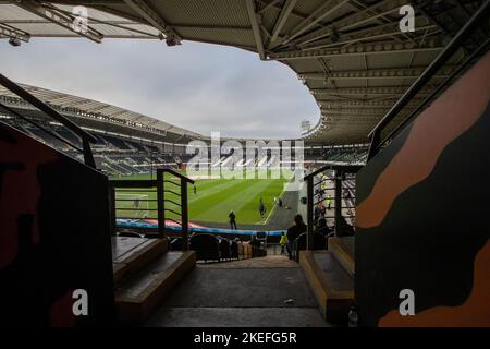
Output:
<svg viewBox="0 0 490 349">
<path fill-rule="evenodd" d="M 168 250 L 166 239 L 146 238 L 112 238 L 112 270 L 114 285 L 124 277 L 132 276 L 143 269 L 148 263 L 159 257 Z"/>
</svg>

